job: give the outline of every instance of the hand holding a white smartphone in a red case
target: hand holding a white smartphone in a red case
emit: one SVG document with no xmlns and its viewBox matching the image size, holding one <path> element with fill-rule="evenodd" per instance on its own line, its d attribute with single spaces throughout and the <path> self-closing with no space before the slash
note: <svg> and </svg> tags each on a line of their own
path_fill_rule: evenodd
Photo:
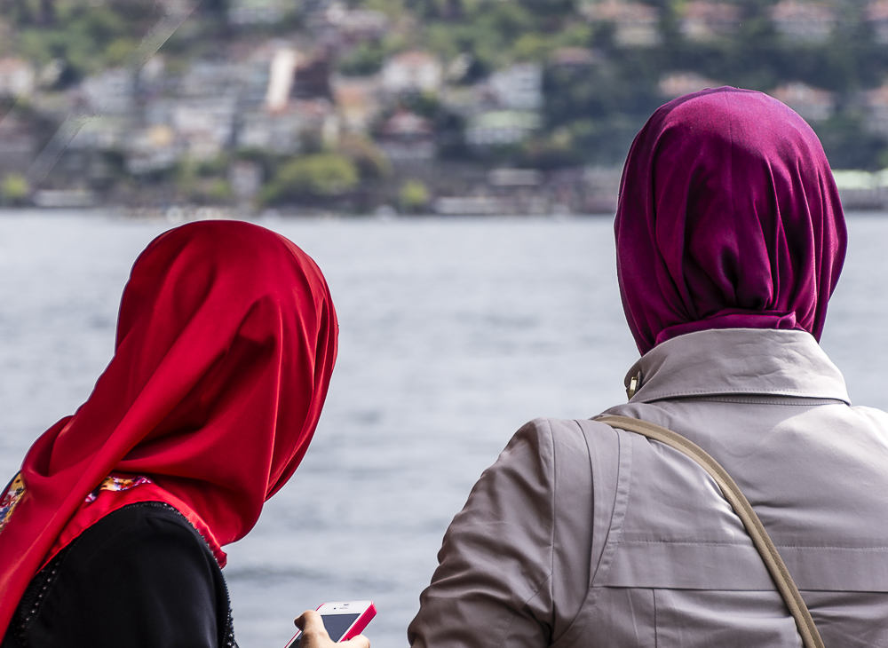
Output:
<svg viewBox="0 0 888 648">
<path fill-rule="evenodd" d="M 353 637 L 360 635 L 376 613 L 373 601 L 325 603 L 317 612 L 305 612 L 296 620 L 302 629 L 290 639 L 286 648 L 329 648 L 330 644 L 351 644 Z M 366 637 L 358 637 L 355 642 L 358 644 L 350 648 L 369 648 Z"/>
</svg>

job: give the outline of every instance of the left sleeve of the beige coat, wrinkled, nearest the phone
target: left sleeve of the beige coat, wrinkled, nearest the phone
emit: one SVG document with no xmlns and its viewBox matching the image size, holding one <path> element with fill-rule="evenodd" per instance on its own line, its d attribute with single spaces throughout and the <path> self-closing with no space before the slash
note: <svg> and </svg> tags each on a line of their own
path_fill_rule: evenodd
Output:
<svg viewBox="0 0 888 648">
<path fill-rule="evenodd" d="M 413 648 L 540 648 L 553 628 L 551 425 L 522 427 L 450 524 L 408 628 Z"/>
</svg>

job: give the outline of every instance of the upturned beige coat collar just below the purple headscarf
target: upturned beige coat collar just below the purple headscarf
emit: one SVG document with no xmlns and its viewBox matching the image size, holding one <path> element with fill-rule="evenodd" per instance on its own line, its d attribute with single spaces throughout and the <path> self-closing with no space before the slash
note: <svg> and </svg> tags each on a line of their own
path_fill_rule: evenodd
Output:
<svg viewBox="0 0 888 648">
<path fill-rule="evenodd" d="M 723 328 L 658 344 L 626 375 L 638 378 L 632 403 L 758 394 L 836 399 L 851 404 L 844 376 L 809 333 Z"/>
</svg>

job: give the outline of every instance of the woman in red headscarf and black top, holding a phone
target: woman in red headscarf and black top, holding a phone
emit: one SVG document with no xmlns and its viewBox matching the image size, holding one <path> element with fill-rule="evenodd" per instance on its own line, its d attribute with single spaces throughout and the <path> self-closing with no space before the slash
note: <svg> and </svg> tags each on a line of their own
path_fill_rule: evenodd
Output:
<svg viewBox="0 0 888 648">
<path fill-rule="evenodd" d="M 284 237 L 157 237 L 114 359 L 3 494 L 0 645 L 234 645 L 222 547 L 302 461 L 336 354 L 327 284 Z"/>
</svg>

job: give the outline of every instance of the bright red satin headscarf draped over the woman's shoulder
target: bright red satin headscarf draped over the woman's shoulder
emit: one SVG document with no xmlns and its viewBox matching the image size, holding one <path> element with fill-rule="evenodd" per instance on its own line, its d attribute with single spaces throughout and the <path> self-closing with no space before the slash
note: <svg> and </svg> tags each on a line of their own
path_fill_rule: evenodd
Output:
<svg viewBox="0 0 888 648">
<path fill-rule="evenodd" d="M 113 360 L 22 464 L 0 532 L 0 637 L 52 554 L 132 502 L 172 504 L 224 564 L 220 545 L 302 461 L 336 353 L 323 275 L 281 235 L 206 221 L 157 237 L 123 291 Z M 151 483 L 87 502 L 110 473 Z"/>
</svg>

